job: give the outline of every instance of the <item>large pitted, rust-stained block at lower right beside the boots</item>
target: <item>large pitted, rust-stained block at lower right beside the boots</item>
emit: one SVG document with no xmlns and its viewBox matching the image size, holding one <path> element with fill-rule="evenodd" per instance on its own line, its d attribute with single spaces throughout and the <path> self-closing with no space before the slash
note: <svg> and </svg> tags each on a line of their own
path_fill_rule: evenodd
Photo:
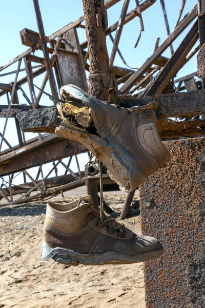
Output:
<svg viewBox="0 0 205 308">
<path fill-rule="evenodd" d="M 145 263 L 146 308 L 205 307 L 205 138 L 165 142 L 172 160 L 140 187 L 142 230 L 165 254 Z"/>
</svg>

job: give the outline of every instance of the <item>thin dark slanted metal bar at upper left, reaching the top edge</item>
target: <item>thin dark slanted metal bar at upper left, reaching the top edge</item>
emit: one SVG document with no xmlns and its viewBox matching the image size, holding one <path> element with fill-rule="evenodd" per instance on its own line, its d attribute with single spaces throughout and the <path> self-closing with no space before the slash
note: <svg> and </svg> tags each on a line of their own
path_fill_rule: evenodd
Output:
<svg viewBox="0 0 205 308">
<path fill-rule="evenodd" d="M 49 59 L 48 47 L 47 47 L 47 44 L 46 44 L 44 26 L 43 26 L 43 21 L 42 21 L 42 15 L 40 14 L 40 8 L 39 8 L 38 0 L 33 0 L 33 4 L 34 4 L 34 8 L 35 8 L 36 20 L 37 20 L 39 36 L 40 36 L 40 42 L 42 43 L 42 49 L 43 49 L 43 52 L 44 52 L 45 65 L 46 65 L 48 79 L 49 79 L 49 83 L 50 83 L 50 87 L 51 87 L 51 92 L 52 92 L 52 95 L 55 98 L 58 98 L 58 92 L 57 92 L 57 89 L 56 89 L 55 78 L 54 78 L 53 70 L 52 70 L 52 67 L 51 67 L 50 59 Z"/>
</svg>

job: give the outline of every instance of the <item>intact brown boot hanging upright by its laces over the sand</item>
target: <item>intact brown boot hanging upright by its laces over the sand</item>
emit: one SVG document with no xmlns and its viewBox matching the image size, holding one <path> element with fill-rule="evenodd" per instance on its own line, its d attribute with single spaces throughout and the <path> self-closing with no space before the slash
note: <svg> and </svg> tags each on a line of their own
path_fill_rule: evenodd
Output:
<svg viewBox="0 0 205 308">
<path fill-rule="evenodd" d="M 48 203 L 42 259 L 63 264 L 128 264 L 159 257 L 155 238 L 136 235 L 95 209 L 90 196 L 68 204 Z"/>
</svg>

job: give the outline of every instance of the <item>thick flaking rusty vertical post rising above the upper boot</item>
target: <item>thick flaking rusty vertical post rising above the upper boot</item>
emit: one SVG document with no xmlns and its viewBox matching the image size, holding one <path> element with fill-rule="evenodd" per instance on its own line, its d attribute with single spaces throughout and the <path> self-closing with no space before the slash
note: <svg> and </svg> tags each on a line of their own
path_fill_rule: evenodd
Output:
<svg viewBox="0 0 205 308">
<path fill-rule="evenodd" d="M 112 88 L 110 102 L 116 103 L 117 83 L 115 75 L 110 72 L 106 46 L 108 22 L 104 0 L 82 1 L 90 61 L 89 93 L 97 99 L 108 101 L 108 90 Z"/>
</svg>

